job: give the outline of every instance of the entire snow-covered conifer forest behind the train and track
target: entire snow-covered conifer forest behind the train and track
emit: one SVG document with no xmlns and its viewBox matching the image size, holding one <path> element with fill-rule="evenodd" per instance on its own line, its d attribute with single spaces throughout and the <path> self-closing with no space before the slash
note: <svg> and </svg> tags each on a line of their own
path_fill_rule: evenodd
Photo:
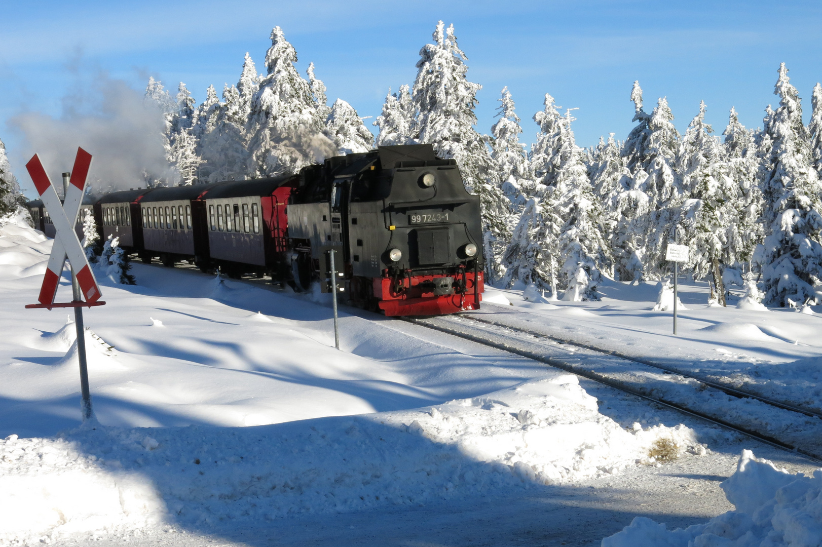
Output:
<svg viewBox="0 0 822 547">
<path fill-rule="evenodd" d="M 665 252 L 676 238 L 690 248 L 681 271 L 711 283 L 720 304 L 730 285 L 751 283 L 769 306 L 818 300 L 822 85 L 813 90 L 806 126 L 783 63 L 778 100 L 765 108 L 761 128 L 742 126 L 731 108 L 727 126 L 715 131 L 700 103 L 681 135 L 666 98 L 648 108 L 635 81 L 626 89 L 633 130 L 585 149 L 575 143 L 574 108 L 558 106 L 550 89 L 544 109 L 532 116 L 536 126 L 523 128 L 515 98 L 503 88 L 490 134 L 478 131 L 474 108 L 482 86 L 469 80 L 453 25 L 440 21 L 432 38 L 420 50 L 413 84 L 386 95 L 373 122 L 376 139 L 344 99 L 329 106 L 321 67 L 298 72 L 297 52 L 279 27 L 270 35 L 265 71 L 258 73 L 247 53 L 222 99 L 212 85 L 197 105 L 184 83 L 175 94 L 150 78 L 145 101 L 164 117 L 173 176 L 146 176 L 147 182 L 268 177 L 335 154 L 431 143 L 457 160 L 465 185 L 480 195 L 490 283 L 598 300 L 603 277 L 672 274 Z M 525 145 L 529 133 L 533 142 Z M 2 144 L 0 182 L 0 206 L 8 208 L 19 191 Z"/>
</svg>

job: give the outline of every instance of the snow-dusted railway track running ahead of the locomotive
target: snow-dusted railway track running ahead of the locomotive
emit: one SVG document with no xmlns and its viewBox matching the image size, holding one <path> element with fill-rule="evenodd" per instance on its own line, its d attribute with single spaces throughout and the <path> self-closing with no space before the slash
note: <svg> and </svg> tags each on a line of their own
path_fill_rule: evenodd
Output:
<svg viewBox="0 0 822 547">
<path fill-rule="evenodd" d="M 772 401 L 722 384 L 705 382 L 703 379 L 669 370 L 658 363 L 602 351 L 528 329 L 518 329 L 492 319 L 479 319 L 473 315 L 404 319 L 543 362 L 699 417 L 765 444 L 792 450 L 816 462 L 822 462 L 822 444 L 813 441 L 822 439 L 822 416 L 814 411 Z M 582 352 L 573 348 L 579 348 Z M 721 398 L 716 397 L 718 394 L 727 398 L 726 405 L 715 404 L 722 402 L 719 400 Z M 763 411 L 771 416 L 776 414 L 776 419 L 761 419 Z M 784 430 L 778 426 L 780 423 L 792 423 L 794 426 Z"/>
</svg>

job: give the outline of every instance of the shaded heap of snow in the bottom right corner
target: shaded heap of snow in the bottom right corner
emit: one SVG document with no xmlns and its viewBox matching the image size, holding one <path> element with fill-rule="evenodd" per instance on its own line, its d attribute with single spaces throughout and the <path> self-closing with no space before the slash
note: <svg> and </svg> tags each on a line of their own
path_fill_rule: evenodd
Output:
<svg viewBox="0 0 822 547">
<path fill-rule="evenodd" d="M 720 484 L 736 511 L 705 524 L 667 531 L 636 517 L 603 547 L 810 547 L 822 542 L 822 470 L 791 475 L 743 450 L 737 471 Z"/>
</svg>

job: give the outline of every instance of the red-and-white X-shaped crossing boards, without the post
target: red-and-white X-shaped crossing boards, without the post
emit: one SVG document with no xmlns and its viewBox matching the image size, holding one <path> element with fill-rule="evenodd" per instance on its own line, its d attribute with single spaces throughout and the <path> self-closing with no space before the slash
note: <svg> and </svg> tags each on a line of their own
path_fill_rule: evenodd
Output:
<svg viewBox="0 0 822 547">
<path fill-rule="evenodd" d="M 28 169 L 31 180 L 35 183 L 35 188 L 39 192 L 40 199 L 43 200 L 43 205 L 52 219 L 54 228 L 57 230 L 52 252 L 48 257 L 48 267 L 43 278 L 43 287 L 40 289 L 38 298 L 40 304 L 49 309 L 54 306 L 54 296 L 57 294 L 60 275 L 67 257 L 69 263 L 72 264 L 77 283 L 80 283 L 82 295 L 85 296 L 85 305 L 94 303 L 102 296 L 97 286 L 95 274 L 91 272 L 89 261 L 86 260 L 83 247 L 80 245 L 80 240 L 77 239 L 76 232 L 74 232 L 77 213 L 80 211 L 83 195 L 85 194 L 85 179 L 89 174 L 90 165 L 91 154 L 84 149 L 78 148 L 74 168 L 72 168 L 72 178 L 66 191 L 65 203 L 61 204 L 60 197 L 48 179 L 48 175 L 37 154 L 29 160 L 29 163 L 25 164 L 25 168 Z"/>
</svg>

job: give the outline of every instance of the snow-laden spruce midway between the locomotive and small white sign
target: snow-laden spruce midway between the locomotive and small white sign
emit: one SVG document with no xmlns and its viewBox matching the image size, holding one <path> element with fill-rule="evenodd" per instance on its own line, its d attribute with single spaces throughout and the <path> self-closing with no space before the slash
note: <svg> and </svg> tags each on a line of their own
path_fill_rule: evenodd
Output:
<svg viewBox="0 0 822 547">
<path fill-rule="evenodd" d="M 599 300 L 601 272 L 612 274 L 612 257 L 605 239 L 602 205 L 593 195 L 588 172 L 582 162 L 584 151 L 570 129 L 574 121 L 568 111 L 561 120 L 560 164 L 554 184 L 544 202 L 563 219 L 556 246 L 560 253 L 559 287 L 564 300 Z"/>
</svg>

